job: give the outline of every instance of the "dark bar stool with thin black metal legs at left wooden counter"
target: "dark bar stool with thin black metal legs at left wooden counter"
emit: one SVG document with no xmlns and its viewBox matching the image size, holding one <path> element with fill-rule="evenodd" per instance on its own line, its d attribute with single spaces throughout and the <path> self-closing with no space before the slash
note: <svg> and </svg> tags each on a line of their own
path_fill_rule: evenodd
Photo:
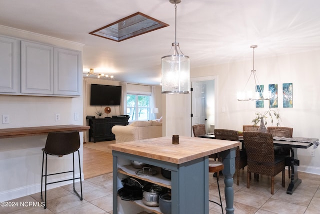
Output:
<svg viewBox="0 0 320 214">
<path fill-rule="evenodd" d="M 81 166 L 80 166 L 80 137 L 78 131 L 73 132 L 49 132 L 46 138 L 45 147 L 42 149 L 42 171 L 41 171 L 41 199 L 43 201 L 42 196 L 42 184 L 43 184 L 43 177 L 44 177 L 44 208 L 46 208 L 46 185 L 52 183 L 58 183 L 68 180 L 73 180 L 73 191 L 76 195 L 82 200 L 82 182 L 81 182 Z M 74 152 L 78 152 L 78 160 L 79 160 L 79 177 L 74 177 Z M 58 173 L 47 174 L 47 155 L 55 155 L 58 157 L 62 157 L 63 155 L 71 154 L 72 153 L 72 160 L 73 160 L 73 170 L 71 171 L 64 171 Z M 43 162 L 44 162 L 44 154 L 45 154 L 45 174 L 43 175 Z M 73 178 L 64 179 L 54 182 L 46 181 L 47 176 L 55 175 L 55 174 L 62 174 L 62 173 L 69 173 L 73 172 Z M 81 189 L 81 196 L 77 193 L 74 188 L 74 180 L 80 179 L 80 189 Z"/>
</svg>

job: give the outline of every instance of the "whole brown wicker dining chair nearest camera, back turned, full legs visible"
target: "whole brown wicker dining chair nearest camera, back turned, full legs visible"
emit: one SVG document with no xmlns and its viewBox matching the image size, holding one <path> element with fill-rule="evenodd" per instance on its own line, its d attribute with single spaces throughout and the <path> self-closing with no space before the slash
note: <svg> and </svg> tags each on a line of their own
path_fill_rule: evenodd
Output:
<svg viewBox="0 0 320 214">
<path fill-rule="evenodd" d="M 284 157 L 275 156 L 273 152 L 273 136 L 263 132 L 244 132 L 243 140 L 247 154 L 247 184 L 250 188 L 251 172 L 271 176 L 271 194 L 274 193 L 274 176 L 282 171 L 282 187 L 284 181 Z"/>
</svg>

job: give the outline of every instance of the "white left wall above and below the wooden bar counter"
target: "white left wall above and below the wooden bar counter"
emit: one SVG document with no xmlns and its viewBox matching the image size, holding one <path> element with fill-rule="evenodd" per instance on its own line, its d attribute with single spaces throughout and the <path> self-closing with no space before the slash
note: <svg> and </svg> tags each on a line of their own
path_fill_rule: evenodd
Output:
<svg viewBox="0 0 320 214">
<path fill-rule="evenodd" d="M 78 43 L 3 26 L 0 26 L 0 34 L 82 51 L 82 45 Z M 79 120 L 73 120 L 74 112 L 79 113 Z M 60 121 L 54 121 L 54 113 L 60 114 Z M 0 95 L 0 115 L 2 114 L 9 115 L 10 123 L 0 123 L 0 129 L 65 124 L 82 125 L 83 97 Z M 44 147 L 45 139 L 45 135 L 0 139 L 0 201 L 40 191 L 41 148 Z M 82 133 L 80 133 L 80 140 L 82 160 Z M 48 158 L 54 160 L 49 162 L 48 170 L 64 170 L 70 169 L 72 166 L 72 156 L 70 155 Z M 76 170 L 76 174 L 79 174 L 78 170 Z M 70 177 L 70 175 L 66 176 Z M 51 187 L 64 184 L 52 184 Z M 50 186 L 48 187 L 50 188 Z"/>
</svg>

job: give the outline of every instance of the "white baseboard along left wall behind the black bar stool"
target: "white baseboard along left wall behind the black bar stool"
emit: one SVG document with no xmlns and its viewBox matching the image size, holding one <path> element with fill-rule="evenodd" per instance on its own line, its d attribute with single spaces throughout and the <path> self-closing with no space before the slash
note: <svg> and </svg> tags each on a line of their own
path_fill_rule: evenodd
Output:
<svg viewBox="0 0 320 214">
<path fill-rule="evenodd" d="M 78 177 L 79 174 L 75 174 L 74 176 Z M 61 179 L 71 179 L 71 178 L 72 178 L 72 175 L 67 176 L 65 178 L 61 178 Z M 84 180 L 83 173 L 81 174 L 81 178 L 82 178 L 81 180 L 83 181 Z M 52 181 L 54 182 L 57 180 L 52 180 Z M 52 189 L 52 188 L 56 188 L 56 187 L 60 187 L 60 186 L 64 186 L 64 185 L 70 184 L 72 182 L 73 182 L 72 180 L 68 180 L 68 181 L 63 181 L 60 183 L 52 183 L 50 185 L 47 185 L 47 190 Z M 79 182 L 79 179 L 75 180 L 75 182 Z M 23 196 L 30 195 L 30 194 L 34 194 L 34 193 L 37 193 L 40 191 L 41 191 L 41 184 L 40 183 L 27 185 L 27 186 L 21 186 L 19 188 L 15 188 L 15 189 L 9 189 L 7 191 L 0 192 L 0 202 L 11 200 L 14 198 L 23 197 Z"/>
</svg>

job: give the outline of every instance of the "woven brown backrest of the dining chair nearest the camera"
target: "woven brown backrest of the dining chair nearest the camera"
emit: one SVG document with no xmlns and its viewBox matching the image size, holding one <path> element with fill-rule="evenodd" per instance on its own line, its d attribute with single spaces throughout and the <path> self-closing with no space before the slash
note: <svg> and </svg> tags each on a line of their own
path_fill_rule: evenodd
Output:
<svg viewBox="0 0 320 214">
<path fill-rule="evenodd" d="M 248 167 L 250 162 L 274 164 L 273 136 L 264 132 L 243 132 Z"/>
</svg>

